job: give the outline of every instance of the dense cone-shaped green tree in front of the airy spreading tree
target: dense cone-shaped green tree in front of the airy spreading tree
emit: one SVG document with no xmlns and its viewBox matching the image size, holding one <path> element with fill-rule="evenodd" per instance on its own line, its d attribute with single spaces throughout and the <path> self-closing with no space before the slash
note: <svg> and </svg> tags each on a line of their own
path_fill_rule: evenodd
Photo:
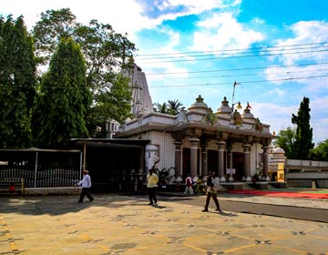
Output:
<svg viewBox="0 0 328 255">
<path fill-rule="evenodd" d="M 80 46 L 62 39 L 41 82 L 33 117 L 38 146 L 60 148 L 70 138 L 87 137 L 86 113 L 91 95 Z"/>
</svg>

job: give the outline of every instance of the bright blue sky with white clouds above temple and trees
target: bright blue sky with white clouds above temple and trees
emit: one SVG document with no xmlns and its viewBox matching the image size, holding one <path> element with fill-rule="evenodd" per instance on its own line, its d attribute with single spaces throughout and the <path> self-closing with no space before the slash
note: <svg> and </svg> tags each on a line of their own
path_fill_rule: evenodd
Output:
<svg viewBox="0 0 328 255">
<path fill-rule="evenodd" d="M 328 1 L 324 0 L 0 0 L 2 15 L 69 7 L 78 21 L 108 23 L 138 48 L 152 101 L 198 95 L 215 112 L 223 97 L 270 124 L 292 126 L 310 98 L 315 143 L 328 138 Z"/>
</svg>

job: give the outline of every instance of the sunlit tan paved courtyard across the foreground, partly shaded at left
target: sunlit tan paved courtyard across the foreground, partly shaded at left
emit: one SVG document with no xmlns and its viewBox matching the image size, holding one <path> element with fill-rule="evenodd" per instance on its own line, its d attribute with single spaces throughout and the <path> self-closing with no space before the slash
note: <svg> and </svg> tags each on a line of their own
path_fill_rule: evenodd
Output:
<svg viewBox="0 0 328 255">
<path fill-rule="evenodd" d="M 328 254 L 328 223 L 146 197 L 0 198 L 0 254 Z M 327 203 L 327 200 L 323 200 Z M 212 202 L 211 202 L 212 203 Z"/>
</svg>

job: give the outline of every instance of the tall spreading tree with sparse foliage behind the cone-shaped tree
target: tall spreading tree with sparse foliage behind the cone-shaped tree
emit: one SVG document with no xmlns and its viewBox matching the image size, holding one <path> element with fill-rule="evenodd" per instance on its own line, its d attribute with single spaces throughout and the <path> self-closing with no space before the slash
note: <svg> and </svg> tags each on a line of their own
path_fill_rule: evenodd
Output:
<svg viewBox="0 0 328 255">
<path fill-rule="evenodd" d="M 131 96 L 128 81 L 120 77 L 119 70 L 128 65 L 128 59 L 136 48 L 128 41 L 127 35 L 118 34 L 112 26 L 98 23 L 97 20 L 83 26 L 77 23 L 76 16 L 67 8 L 42 13 L 33 35 L 36 54 L 42 64 L 47 63 L 62 37 L 72 36 L 81 46 L 86 58 L 87 87 L 93 94 L 92 108 L 87 110 L 90 135 L 96 134 L 99 125 L 104 126 L 108 118 L 120 122 L 121 118 L 128 117 L 127 102 L 130 102 Z"/>
</svg>

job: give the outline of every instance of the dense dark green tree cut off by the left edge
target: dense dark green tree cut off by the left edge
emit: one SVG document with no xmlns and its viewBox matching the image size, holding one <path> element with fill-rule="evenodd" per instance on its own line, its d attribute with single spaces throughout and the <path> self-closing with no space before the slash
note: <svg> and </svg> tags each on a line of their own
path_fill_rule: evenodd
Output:
<svg viewBox="0 0 328 255">
<path fill-rule="evenodd" d="M 0 20 L 0 148 L 27 148 L 36 95 L 33 41 L 23 16 Z"/>
</svg>

